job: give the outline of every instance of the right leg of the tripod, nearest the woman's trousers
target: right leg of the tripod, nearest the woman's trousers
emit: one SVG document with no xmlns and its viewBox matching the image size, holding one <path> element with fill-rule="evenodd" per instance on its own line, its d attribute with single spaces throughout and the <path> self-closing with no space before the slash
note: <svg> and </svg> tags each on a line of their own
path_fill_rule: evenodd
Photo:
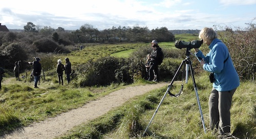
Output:
<svg viewBox="0 0 256 139">
<path fill-rule="evenodd" d="M 197 89 L 197 85 L 196 85 L 196 81 L 195 81 L 195 77 L 194 77 L 194 72 L 193 72 L 193 69 L 192 69 L 191 61 L 189 61 L 189 68 L 190 68 L 190 72 L 191 72 L 191 76 L 192 76 L 192 80 L 193 80 L 194 90 L 196 92 L 197 104 L 198 104 L 198 108 L 199 108 L 199 112 L 200 112 L 200 116 L 201 116 L 201 121 L 202 121 L 203 128 L 204 128 L 204 133 L 206 133 L 206 129 L 205 129 L 205 125 L 204 125 L 203 113 L 202 113 L 202 109 L 201 109 L 201 105 L 200 105 L 200 101 L 199 101 L 199 97 L 198 97 L 198 92 L 197 92 L 198 89 Z"/>
</svg>

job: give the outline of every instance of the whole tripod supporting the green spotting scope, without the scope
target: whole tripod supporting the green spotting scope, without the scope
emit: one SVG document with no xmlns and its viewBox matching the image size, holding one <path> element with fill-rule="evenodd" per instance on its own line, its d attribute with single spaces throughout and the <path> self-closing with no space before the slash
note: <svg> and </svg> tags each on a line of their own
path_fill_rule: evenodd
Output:
<svg viewBox="0 0 256 139">
<path fill-rule="evenodd" d="M 183 92 L 182 92 L 183 85 L 181 85 L 181 89 L 180 89 L 180 91 L 179 91 L 178 94 L 172 94 L 172 93 L 169 92 L 170 88 L 172 88 L 172 86 L 173 86 L 174 79 L 175 79 L 176 76 L 178 75 L 178 73 L 179 73 L 179 71 L 180 71 L 180 69 L 181 69 L 181 67 L 182 67 L 183 65 L 184 65 L 184 67 L 183 67 L 183 73 L 186 71 L 186 78 L 185 78 L 185 83 L 186 83 L 186 84 L 187 84 L 187 80 L 188 80 L 188 71 L 189 71 L 189 69 L 190 69 L 191 76 L 192 76 L 192 80 L 193 80 L 193 85 L 194 85 L 194 90 L 195 90 L 196 97 L 197 97 L 197 104 L 198 104 L 198 108 L 199 108 L 199 112 L 200 112 L 200 116 L 201 116 L 201 121 L 202 121 L 202 124 L 203 124 L 204 133 L 206 133 L 206 129 L 205 129 L 205 125 L 204 125 L 204 118 L 203 118 L 202 109 L 201 109 L 201 105 L 200 105 L 200 101 L 199 101 L 199 97 L 198 97 L 198 92 L 197 92 L 198 89 L 197 89 L 197 85 L 196 85 L 196 81 L 195 81 L 195 77 L 194 77 L 194 72 L 193 72 L 193 69 L 192 69 L 192 64 L 191 64 L 189 55 L 190 55 L 190 49 L 187 48 L 187 50 L 186 50 L 186 59 L 182 61 L 182 63 L 180 64 L 178 70 L 176 71 L 176 73 L 175 73 L 175 75 L 174 75 L 172 81 L 171 81 L 170 84 L 168 85 L 168 88 L 167 88 L 167 90 L 166 90 L 166 92 L 165 92 L 163 98 L 161 99 L 160 103 L 158 104 L 157 109 L 156 109 L 156 111 L 155 111 L 153 117 L 152 117 L 151 120 L 150 120 L 150 123 L 148 123 L 148 125 L 147 125 L 145 131 L 143 132 L 143 136 L 144 136 L 145 132 L 147 131 L 148 127 L 150 126 L 151 122 L 153 121 L 153 119 L 154 119 L 156 113 L 158 112 L 158 109 L 159 109 L 160 105 L 162 104 L 162 102 L 163 102 L 165 96 L 167 95 L 167 93 L 168 93 L 171 97 L 178 97 L 178 96 L 180 96 L 180 94 L 183 93 Z M 182 74 L 182 76 L 183 76 L 183 74 Z M 183 77 L 182 77 L 182 78 L 183 78 Z"/>
</svg>

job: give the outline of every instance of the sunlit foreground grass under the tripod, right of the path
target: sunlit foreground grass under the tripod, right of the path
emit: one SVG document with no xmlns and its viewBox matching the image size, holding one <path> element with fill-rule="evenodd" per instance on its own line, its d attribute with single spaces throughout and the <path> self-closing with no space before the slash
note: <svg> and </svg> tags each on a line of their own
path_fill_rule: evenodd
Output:
<svg viewBox="0 0 256 139">
<path fill-rule="evenodd" d="M 197 75 L 196 75 L 197 76 Z M 218 135 L 209 129 L 208 97 L 211 84 L 207 80 L 207 75 L 197 77 L 196 84 L 203 85 L 198 87 L 198 94 L 201 103 L 206 133 L 202 126 L 200 112 L 196 100 L 195 91 L 191 89 L 191 82 L 185 84 L 183 94 L 177 98 L 168 95 L 163 100 L 158 112 L 156 108 L 166 91 L 166 87 L 148 92 L 138 96 L 124 105 L 112 110 L 108 114 L 74 128 L 72 132 L 59 138 L 79 138 L 93 134 L 94 138 L 210 138 L 215 139 Z M 179 91 L 181 82 L 175 82 L 172 92 Z M 188 86 L 188 87 L 187 87 Z M 249 89 L 247 89 L 249 88 Z M 238 138 L 255 138 L 255 82 L 241 82 L 233 96 L 231 107 L 231 132 Z M 100 125 L 110 126 L 108 119 L 112 119 L 113 114 L 118 113 L 118 122 L 111 123 L 112 129 L 102 131 Z M 150 122 L 153 114 L 156 113 L 154 120 L 142 136 L 146 126 Z M 117 116 L 117 115 L 116 115 Z M 96 124 L 96 123 L 97 124 Z M 105 124 L 104 124 L 105 123 Z M 105 126 L 106 126 L 105 125 Z M 93 131 L 92 131 L 93 129 Z M 80 132 L 82 131 L 82 132 Z M 95 134 L 96 133 L 96 134 Z M 104 134 L 104 135 L 102 135 Z M 85 137 L 87 138 L 87 137 Z M 90 138 L 90 137 L 89 137 Z"/>
</svg>

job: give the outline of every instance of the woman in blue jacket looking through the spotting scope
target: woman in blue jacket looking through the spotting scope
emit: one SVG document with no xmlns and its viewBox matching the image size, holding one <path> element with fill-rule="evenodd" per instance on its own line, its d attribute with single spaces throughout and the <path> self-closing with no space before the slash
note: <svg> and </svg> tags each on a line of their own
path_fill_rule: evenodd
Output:
<svg viewBox="0 0 256 139">
<path fill-rule="evenodd" d="M 202 58 L 203 69 L 214 73 L 214 82 L 209 96 L 209 117 L 212 130 L 219 130 L 219 137 L 230 135 L 230 107 L 232 96 L 240 85 L 240 80 L 227 46 L 218 38 L 217 33 L 205 27 L 199 38 L 206 43 L 210 51 L 204 56 L 202 51 L 195 48 L 195 54 Z"/>
</svg>

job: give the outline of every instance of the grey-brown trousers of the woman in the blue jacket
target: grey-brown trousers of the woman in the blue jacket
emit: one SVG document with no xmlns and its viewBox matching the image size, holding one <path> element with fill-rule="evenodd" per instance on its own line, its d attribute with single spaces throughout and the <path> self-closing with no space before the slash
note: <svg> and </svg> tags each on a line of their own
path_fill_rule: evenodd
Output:
<svg viewBox="0 0 256 139">
<path fill-rule="evenodd" d="M 209 96 L 209 118 L 211 129 L 219 129 L 219 134 L 230 133 L 230 108 L 236 89 L 217 91 L 212 88 Z"/>
</svg>

